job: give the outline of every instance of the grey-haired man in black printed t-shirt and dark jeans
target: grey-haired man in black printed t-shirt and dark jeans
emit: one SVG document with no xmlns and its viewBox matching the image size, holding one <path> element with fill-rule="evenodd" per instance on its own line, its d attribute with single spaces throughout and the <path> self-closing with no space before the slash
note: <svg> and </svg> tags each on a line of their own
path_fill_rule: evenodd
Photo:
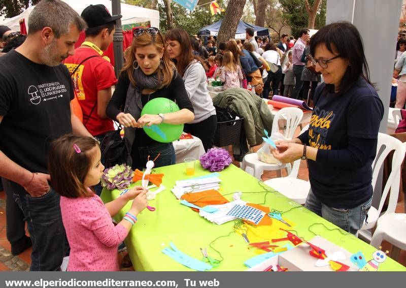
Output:
<svg viewBox="0 0 406 288">
<path fill-rule="evenodd" d="M 72 132 L 91 137 L 71 113 L 72 81 L 60 64 L 84 27 L 66 3 L 43 0 L 29 16 L 26 41 L 0 58 L 0 176 L 27 219 L 32 271 L 58 270 L 67 247 L 59 195 L 49 185 L 50 142 Z"/>
</svg>

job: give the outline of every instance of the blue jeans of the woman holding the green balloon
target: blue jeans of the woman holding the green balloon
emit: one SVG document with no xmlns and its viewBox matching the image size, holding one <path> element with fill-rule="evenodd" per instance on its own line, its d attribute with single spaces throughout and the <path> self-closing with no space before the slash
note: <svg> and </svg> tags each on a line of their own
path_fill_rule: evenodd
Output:
<svg viewBox="0 0 406 288">
<path fill-rule="evenodd" d="M 174 145 L 171 143 L 155 143 L 146 147 L 136 147 L 132 146 L 131 157 L 132 157 L 132 169 L 145 169 L 145 165 L 148 161 L 148 156 L 150 160 L 155 159 L 159 154 L 158 158 L 154 161 L 154 168 L 168 166 L 176 163 L 176 155 Z"/>
</svg>

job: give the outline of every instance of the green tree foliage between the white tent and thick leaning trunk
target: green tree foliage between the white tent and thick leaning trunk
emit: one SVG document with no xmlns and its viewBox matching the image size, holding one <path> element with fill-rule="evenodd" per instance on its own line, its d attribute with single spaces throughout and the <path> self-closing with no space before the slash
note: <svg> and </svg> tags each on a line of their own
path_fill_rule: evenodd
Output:
<svg viewBox="0 0 406 288">
<path fill-rule="evenodd" d="M 206 0 L 206 2 L 208 2 Z M 220 4 L 221 2 L 218 1 Z M 221 4 L 220 4 L 221 7 Z M 213 24 L 223 18 L 224 14 L 212 16 L 209 5 L 196 7 L 193 11 L 188 11 L 179 4 L 171 1 L 171 9 L 173 14 L 174 27 L 182 28 L 187 31 L 189 35 L 198 34 L 199 30 L 207 25 Z M 166 11 L 163 3 L 158 2 L 159 10 L 159 28 L 162 33 L 168 30 L 166 21 Z"/>
</svg>

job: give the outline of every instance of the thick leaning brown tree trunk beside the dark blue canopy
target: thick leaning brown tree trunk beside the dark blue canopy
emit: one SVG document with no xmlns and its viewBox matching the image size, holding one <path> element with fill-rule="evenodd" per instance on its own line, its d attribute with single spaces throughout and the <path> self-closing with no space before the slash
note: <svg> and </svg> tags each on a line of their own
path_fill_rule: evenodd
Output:
<svg viewBox="0 0 406 288">
<path fill-rule="evenodd" d="M 217 42 L 228 41 L 235 37 L 235 31 L 241 16 L 243 16 L 246 0 L 230 0 L 225 10 L 223 22 L 221 23 Z"/>
</svg>

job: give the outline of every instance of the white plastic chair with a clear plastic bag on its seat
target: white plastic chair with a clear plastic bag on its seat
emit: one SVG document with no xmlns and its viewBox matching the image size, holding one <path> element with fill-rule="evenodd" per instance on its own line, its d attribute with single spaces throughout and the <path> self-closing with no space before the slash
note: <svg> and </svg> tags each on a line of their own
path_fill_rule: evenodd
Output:
<svg viewBox="0 0 406 288">
<path fill-rule="evenodd" d="M 299 124 L 301 118 L 303 117 L 303 111 L 296 107 L 286 107 L 279 110 L 272 123 L 272 133 L 279 132 L 279 120 L 284 119 L 286 120 L 286 130 L 285 130 L 285 137 L 287 139 L 292 139 L 296 127 Z M 243 163 L 241 165 L 241 169 L 246 171 L 246 168 L 250 167 L 254 170 L 254 177 L 261 180 L 261 175 L 264 170 L 277 170 L 277 175 L 279 177 L 282 176 L 281 169 L 287 169 L 288 173 L 291 173 L 291 165 L 290 164 L 283 164 L 283 165 L 276 165 L 276 164 L 268 164 L 262 161 L 259 161 L 257 153 L 250 153 L 244 156 Z"/>
</svg>

